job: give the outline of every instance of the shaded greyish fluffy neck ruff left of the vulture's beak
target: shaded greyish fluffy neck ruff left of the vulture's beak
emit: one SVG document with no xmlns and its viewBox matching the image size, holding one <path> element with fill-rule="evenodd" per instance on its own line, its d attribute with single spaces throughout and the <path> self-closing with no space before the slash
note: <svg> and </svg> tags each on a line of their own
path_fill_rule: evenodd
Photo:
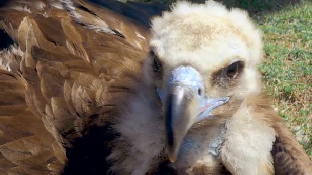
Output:
<svg viewBox="0 0 312 175">
<path fill-rule="evenodd" d="M 108 160 L 121 162 L 111 167 L 114 172 L 145 174 L 152 166 L 157 166 L 159 156 L 164 152 L 164 113 L 154 87 L 144 81 L 135 87 L 136 93 L 124 99 L 126 102 L 121 108 L 118 122 L 112 126 L 120 133 L 115 144 L 119 146 L 113 148 Z M 127 156 L 115 152 L 127 152 Z"/>
</svg>

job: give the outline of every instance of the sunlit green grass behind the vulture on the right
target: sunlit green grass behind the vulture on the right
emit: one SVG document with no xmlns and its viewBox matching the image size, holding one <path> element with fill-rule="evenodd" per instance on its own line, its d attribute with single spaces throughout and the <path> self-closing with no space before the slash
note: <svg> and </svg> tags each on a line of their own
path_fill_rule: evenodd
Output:
<svg viewBox="0 0 312 175">
<path fill-rule="evenodd" d="M 222 2 L 246 9 L 262 28 L 265 56 L 259 69 L 264 84 L 285 123 L 312 158 L 312 1 Z"/>
</svg>

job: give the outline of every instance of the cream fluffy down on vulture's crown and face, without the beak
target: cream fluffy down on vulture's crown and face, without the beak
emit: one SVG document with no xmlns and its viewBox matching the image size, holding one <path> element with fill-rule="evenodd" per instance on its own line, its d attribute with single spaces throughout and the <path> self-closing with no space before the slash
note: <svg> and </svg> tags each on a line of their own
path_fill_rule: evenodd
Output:
<svg viewBox="0 0 312 175">
<path fill-rule="evenodd" d="M 191 65 L 202 74 L 209 96 L 235 96 L 241 100 L 261 89 L 257 63 L 263 56 L 262 33 L 247 12 L 228 10 L 210 0 L 205 4 L 182 1 L 151 23 L 150 48 L 162 64 L 162 76 L 154 75 L 151 56 L 144 68 L 148 83 L 165 88 L 172 69 Z M 235 61 L 244 64 L 242 74 L 232 81 L 218 78 L 218 73 Z M 221 85 L 216 85 L 218 82 Z"/>
</svg>

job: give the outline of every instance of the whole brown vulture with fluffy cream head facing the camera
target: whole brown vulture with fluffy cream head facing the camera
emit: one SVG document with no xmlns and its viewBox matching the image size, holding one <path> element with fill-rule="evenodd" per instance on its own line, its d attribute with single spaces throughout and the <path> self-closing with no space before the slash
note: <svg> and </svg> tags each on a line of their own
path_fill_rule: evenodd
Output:
<svg viewBox="0 0 312 175">
<path fill-rule="evenodd" d="M 262 34 L 219 2 L 2 1 L 0 174 L 312 174 Z"/>
</svg>

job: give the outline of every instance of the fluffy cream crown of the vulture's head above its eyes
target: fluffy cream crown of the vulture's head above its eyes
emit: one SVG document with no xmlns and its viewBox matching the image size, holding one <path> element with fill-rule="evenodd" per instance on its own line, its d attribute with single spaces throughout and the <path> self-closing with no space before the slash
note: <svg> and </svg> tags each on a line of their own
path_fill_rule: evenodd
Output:
<svg viewBox="0 0 312 175">
<path fill-rule="evenodd" d="M 237 8 L 227 10 L 210 0 L 205 4 L 185 1 L 173 4 L 171 11 L 152 20 L 152 35 L 151 47 L 160 57 L 170 56 L 172 64 L 179 57 L 202 63 L 201 56 L 225 59 L 241 54 L 247 65 L 253 66 L 262 58 L 262 33 L 247 12 Z M 200 55 L 203 52 L 209 55 Z"/>
</svg>

